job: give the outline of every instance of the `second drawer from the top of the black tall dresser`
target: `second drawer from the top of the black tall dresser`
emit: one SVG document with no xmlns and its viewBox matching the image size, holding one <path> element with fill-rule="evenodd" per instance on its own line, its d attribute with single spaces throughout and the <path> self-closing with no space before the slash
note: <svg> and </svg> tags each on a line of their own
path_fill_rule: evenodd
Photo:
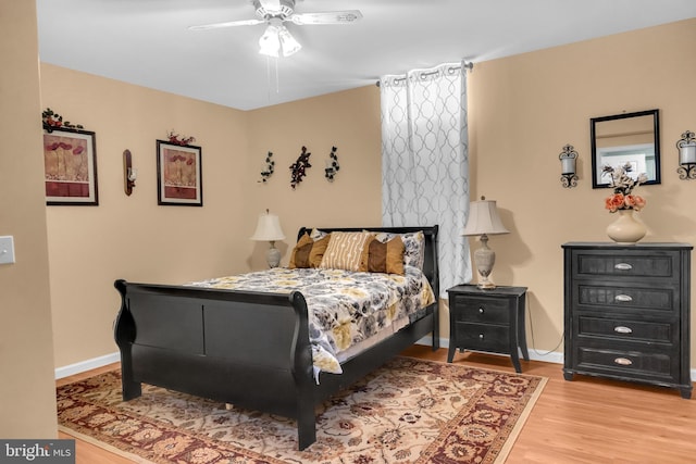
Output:
<svg viewBox="0 0 696 464">
<path fill-rule="evenodd" d="M 579 306 L 610 306 L 626 311 L 655 310 L 672 312 L 675 290 L 670 287 L 636 285 L 607 286 L 600 283 L 577 283 L 575 292 Z"/>
</svg>

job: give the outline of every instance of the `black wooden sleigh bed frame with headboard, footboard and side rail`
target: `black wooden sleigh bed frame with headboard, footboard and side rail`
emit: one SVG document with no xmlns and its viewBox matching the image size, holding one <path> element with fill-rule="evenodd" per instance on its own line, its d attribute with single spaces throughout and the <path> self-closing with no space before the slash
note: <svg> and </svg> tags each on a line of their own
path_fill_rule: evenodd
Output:
<svg viewBox="0 0 696 464">
<path fill-rule="evenodd" d="M 360 231 L 363 228 L 321 228 Z M 124 401 L 141 384 L 278 414 L 297 421 L 298 448 L 316 440 L 315 405 L 432 334 L 439 348 L 437 226 L 369 227 L 425 236 L 423 272 L 435 303 L 409 325 L 341 363 L 343 374 L 314 381 L 308 308 L 286 293 L 134 284 L 116 280 L 122 304 L 114 326 Z M 309 228 L 301 228 L 298 239 Z"/>
</svg>

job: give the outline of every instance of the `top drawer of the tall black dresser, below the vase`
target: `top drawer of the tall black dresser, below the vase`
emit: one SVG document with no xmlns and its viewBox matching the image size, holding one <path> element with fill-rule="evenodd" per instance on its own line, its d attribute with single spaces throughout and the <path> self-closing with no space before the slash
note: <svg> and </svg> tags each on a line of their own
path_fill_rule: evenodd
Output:
<svg viewBox="0 0 696 464">
<path fill-rule="evenodd" d="M 643 251 L 576 250 L 574 277 L 597 276 L 675 280 L 679 278 L 679 254 L 674 252 L 651 253 Z"/>
</svg>

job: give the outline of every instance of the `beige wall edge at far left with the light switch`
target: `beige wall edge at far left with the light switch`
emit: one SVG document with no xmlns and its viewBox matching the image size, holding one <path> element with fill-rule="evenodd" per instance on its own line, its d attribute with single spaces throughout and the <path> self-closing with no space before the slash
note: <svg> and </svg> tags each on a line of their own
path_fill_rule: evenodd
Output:
<svg viewBox="0 0 696 464">
<path fill-rule="evenodd" d="M 57 437 L 36 4 L 0 0 L 0 437 Z"/>
</svg>

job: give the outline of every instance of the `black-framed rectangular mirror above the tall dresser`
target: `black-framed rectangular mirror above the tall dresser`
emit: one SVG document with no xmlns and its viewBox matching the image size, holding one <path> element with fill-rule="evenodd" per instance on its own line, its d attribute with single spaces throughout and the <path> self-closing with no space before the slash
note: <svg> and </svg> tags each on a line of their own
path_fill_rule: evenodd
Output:
<svg viewBox="0 0 696 464">
<path fill-rule="evenodd" d="M 660 184 L 659 111 L 648 110 L 589 120 L 592 143 L 592 188 L 609 187 L 604 166 L 631 164 L 629 175 L 645 173 L 648 181 Z"/>
</svg>

